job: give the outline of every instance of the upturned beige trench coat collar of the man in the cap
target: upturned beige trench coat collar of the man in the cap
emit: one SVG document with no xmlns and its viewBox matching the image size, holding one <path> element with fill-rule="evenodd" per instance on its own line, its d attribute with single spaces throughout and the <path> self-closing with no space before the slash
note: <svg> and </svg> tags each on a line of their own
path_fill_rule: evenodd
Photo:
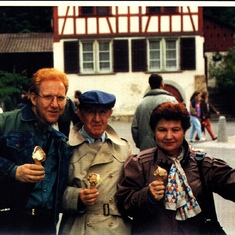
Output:
<svg viewBox="0 0 235 235">
<path fill-rule="evenodd" d="M 77 146 L 84 142 L 88 142 L 80 133 L 80 129 L 82 128 L 82 123 L 76 124 L 70 131 L 69 134 L 69 145 L 70 146 Z M 107 126 L 106 128 L 106 141 L 110 141 L 117 145 L 126 145 L 126 140 L 120 138 L 117 132 L 111 127 Z"/>
</svg>

